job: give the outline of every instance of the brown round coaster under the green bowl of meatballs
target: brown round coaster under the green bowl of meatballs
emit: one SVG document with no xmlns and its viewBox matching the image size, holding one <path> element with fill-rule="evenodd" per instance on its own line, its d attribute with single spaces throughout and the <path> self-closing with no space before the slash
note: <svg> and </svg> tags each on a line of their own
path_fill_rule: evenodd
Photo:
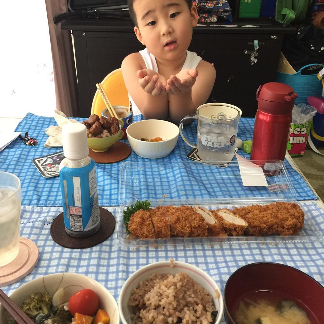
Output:
<svg viewBox="0 0 324 324">
<path fill-rule="evenodd" d="M 116 142 L 105 152 L 94 152 L 89 148 L 89 156 L 97 163 L 115 163 L 130 156 L 131 148 L 122 142 Z"/>
</svg>

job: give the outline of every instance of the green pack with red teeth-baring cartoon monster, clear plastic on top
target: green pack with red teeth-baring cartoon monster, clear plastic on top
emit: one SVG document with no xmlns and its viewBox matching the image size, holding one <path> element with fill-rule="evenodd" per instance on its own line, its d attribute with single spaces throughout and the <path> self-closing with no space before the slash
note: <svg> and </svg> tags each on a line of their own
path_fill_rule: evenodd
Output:
<svg viewBox="0 0 324 324">
<path fill-rule="evenodd" d="M 316 108 L 301 103 L 294 106 L 292 113 L 293 119 L 290 126 L 287 152 L 290 155 L 304 155 Z"/>
</svg>

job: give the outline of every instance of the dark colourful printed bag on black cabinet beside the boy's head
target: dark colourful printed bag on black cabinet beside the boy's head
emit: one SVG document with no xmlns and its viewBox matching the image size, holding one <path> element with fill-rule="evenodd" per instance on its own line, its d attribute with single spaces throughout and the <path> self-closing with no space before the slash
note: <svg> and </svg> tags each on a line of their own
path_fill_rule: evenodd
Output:
<svg viewBox="0 0 324 324">
<path fill-rule="evenodd" d="M 227 0 L 192 0 L 192 4 L 197 7 L 198 22 L 216 22 L 218 18 L 232 21 L 232 9 Z"/>
</svg>

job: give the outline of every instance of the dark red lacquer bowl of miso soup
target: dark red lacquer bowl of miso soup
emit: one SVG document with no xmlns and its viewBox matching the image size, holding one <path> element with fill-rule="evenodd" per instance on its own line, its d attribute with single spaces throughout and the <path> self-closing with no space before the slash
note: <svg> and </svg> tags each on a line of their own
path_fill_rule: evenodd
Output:
<svg viewBox="0 0 324 324">
<path fill-rule="evenodd" d="M 271 305 L 275 316 L 283 316 L 283 312 L 293 307 L 289 311 L 297 310 L 298 316 L 301 312 L 311 324 L 324 323 L 324 287 L 300 270 L 280 263 L 260 262 L 239 268 L 228 278 L 224 290 L 227 324 L 240 324 L 242 317 L 253 324 L 259 323 L 258 318 L 252 319 L 250 315 L 255 316 L 257 307 L 260 318 L 269 316 L 260 311 L 264 303 Z"/>
</svg>

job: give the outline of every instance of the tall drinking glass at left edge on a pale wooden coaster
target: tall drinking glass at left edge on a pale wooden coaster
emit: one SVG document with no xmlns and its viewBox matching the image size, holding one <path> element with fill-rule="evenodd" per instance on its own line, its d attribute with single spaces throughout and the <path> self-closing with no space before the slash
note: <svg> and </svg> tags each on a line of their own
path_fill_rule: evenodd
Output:
<svg viewBox="0 0 324 324">
<path fill-rule="evenodd" d="M 19 252 L 21 198 L 19 178 L 0 171 L 0 267 Z"/>
</svg>

